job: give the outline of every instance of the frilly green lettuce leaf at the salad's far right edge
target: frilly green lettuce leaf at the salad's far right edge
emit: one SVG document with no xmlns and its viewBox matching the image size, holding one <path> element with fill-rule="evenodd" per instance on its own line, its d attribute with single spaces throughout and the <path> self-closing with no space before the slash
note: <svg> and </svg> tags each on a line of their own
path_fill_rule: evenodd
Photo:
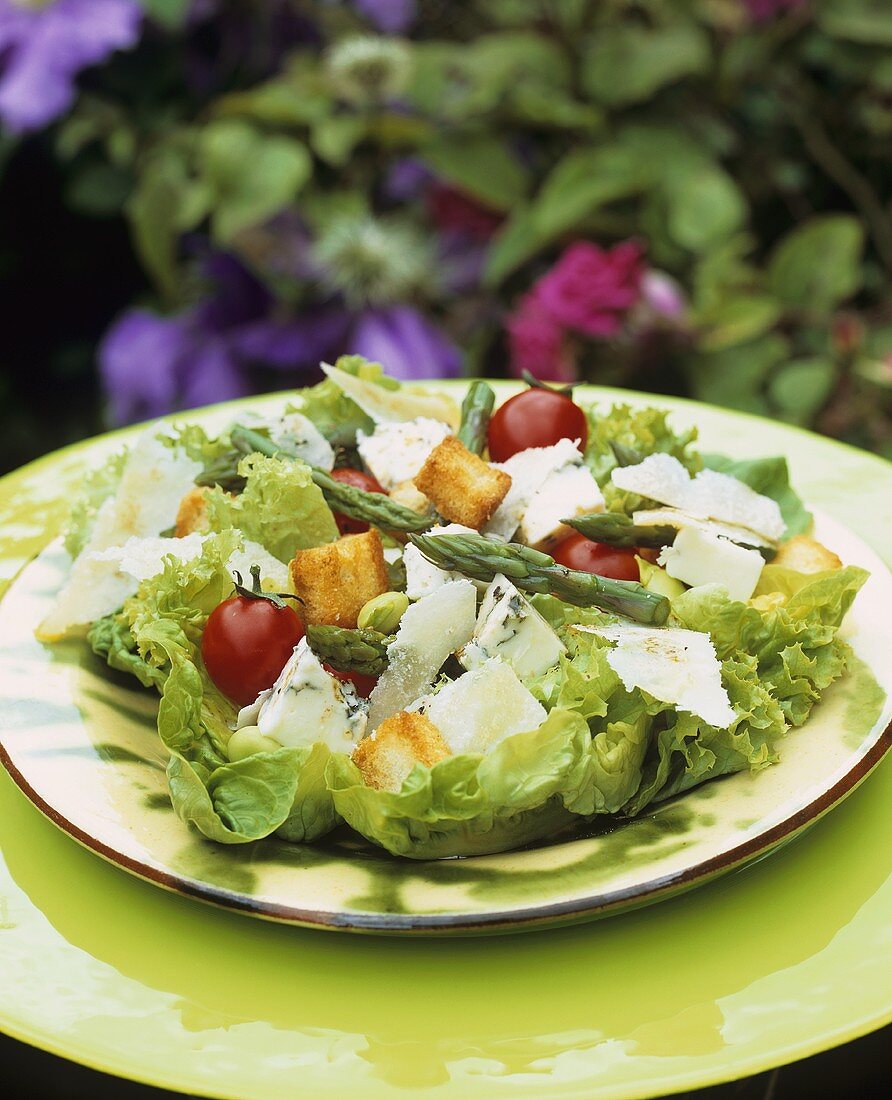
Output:
<svg viewBox="0 0 892 1100">
<path fill-rule="evenodd" d="M 848 647 L 837 631 L 867 578 L 855 565 L 804 575 L 795 592 L 779 592 L 763 608 L 730 600 L 722 585 L 702 585 L 675 598 L 672 610 L 682 626 L 711 635 L 719 660 L 755 658 L 761 683 L 800 726 L 845 670 Z"/>
</svg>

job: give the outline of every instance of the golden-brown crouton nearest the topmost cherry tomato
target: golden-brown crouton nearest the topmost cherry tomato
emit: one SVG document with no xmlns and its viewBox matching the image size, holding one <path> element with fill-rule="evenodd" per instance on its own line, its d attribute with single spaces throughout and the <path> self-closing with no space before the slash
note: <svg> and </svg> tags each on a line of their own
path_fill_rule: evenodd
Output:
<svg viewBox="0 0 892 1100">
<path fill-rule="evenodd" d="M 428 455 L 415 484 L 450 522 L 481 528 L 505 499 L 511 479 L 447 436 Z"/>
</svg>

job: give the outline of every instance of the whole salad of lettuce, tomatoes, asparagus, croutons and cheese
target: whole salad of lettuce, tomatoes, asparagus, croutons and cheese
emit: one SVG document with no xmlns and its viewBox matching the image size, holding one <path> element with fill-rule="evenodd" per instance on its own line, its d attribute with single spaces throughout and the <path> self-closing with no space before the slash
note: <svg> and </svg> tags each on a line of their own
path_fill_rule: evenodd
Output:
<svg viewBox="0 0 892 1100">
<path fill-rule="evenodd" d="M 843 674 L 867 573 L 783 458 L 532 382 L 496 408 L 323 371 L 90 473 L 37 631 L 159 693 L 170 802 L 209 839 L 516 848 L 769 767 Z"/>
</svg>

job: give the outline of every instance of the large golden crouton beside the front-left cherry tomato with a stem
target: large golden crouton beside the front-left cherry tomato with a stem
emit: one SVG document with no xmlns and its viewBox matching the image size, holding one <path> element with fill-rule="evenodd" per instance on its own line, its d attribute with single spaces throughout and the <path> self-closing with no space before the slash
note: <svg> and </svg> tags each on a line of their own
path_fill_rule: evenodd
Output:
<svg viewBox="0 0 892 1100">
<path fill-rule="evenodd" d="M 374 527 L 364 535 L 345 535 L 328 546 L 299 550 L 290 568 L 295 595 L 304 601 L 300 615 L 308 624 L 354 627 L 363 605 L 390 587 Z"/>
</svg>

